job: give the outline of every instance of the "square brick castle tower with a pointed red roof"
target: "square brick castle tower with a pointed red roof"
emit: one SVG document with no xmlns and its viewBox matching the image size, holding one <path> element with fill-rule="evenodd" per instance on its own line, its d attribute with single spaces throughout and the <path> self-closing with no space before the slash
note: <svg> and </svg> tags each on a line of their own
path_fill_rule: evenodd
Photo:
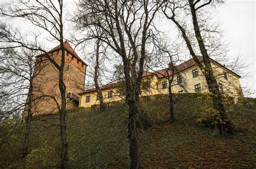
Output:
<svg viewBox="0 0 256 169">
<path fill-rule="evenodd" d="M 74 107 L 78 107 L 79 105 L 78 93 L 84 90 L 87 64 L 81 58 L 79 58 L 77 53 L 72 49 L 67 41 L 64 42 L 64 48 L 64 83 L 66 85 L 67 98 L 66 109 L 72 109 Z M 52 57 L 52 59 L 54 59 L 60 65 L 62 56 L 60 45 L 56 46 L 48 53 L 50 57 Z M 45 97 L 37 99 L 33 103 L 33 116 L 57 112 L 57 104 L 52 97 L 56 98 L 59 105 L 61 103 L 58 86 L 59 71 L 45 56 L 39 56 L 37 60 L 38 62 L 41 62 L 41 64 L 39 64 L 40 66 L 36 67 L 36 69 L 40 71 L 38 71 L 38 75 L 33 79 L 33 97 Z"/>
</svg>

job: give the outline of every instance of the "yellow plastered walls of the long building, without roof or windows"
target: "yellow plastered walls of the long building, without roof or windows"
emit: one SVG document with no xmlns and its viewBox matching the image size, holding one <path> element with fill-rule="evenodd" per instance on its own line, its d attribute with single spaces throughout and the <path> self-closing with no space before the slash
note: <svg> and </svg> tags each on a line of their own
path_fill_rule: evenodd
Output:
<svg viewBox="0 0 256 169">
<path fill-rule="evenodd" d="M 212 62 L 212 67 L 214 71 L 214 75 L 217 78 L 217 82 L 221 83 L 223 85 L 223 92 L 224 94 L 227 94 L 228 96 L 232 96 L 234 98 L 237 98 L 240 96 L 241 86 L 239 82 L 239 77 L 235 75 L 233 72 L 228 71 L 223 66 L 220 66 L 218 63 Z M 193 78 L 192 71 L 194 69 L 198 70 L 198 77 Z M 227 72 L 227 79 L 224 78 L 224 73 Z M 179 75 L 182 77 L 183 80 L 183 86 L 181 87 L 177 83 L 177 75 L 174 75 L 174 81 L 172 83 L 172 91 L 173 93 L 178 93 L 179 91 L 183 90 L 183 92 L 187 93 L 194 93 L 195 92 L 195 86 L 197 84 L 201 85 L 201 92 L 208 92 L 208 87 L 206 83 L 206 79 L 203 75 L 203 72 L 199 69 L 197 65 L 191 66 L 179 73 Z M 168 88 L 163 89 L 162 83 L 167 82 L 168 80 L 166 78 L 158 78 L 155 74 L 144 77 L 142 80 L 142 83 L 144 82 L 150 83 L 150 89 L 149 90 L 141 90 L 140 95 L 141 96 L 150 96 L 154 94 L 168 94 Z M 113 98 L 107 98 L 107 93 L 109 91 L 113 91 Z M 86 103 L 86 96 L 91 96 L 90 103 Z M 96 100 L 97 92 L 90 92 L 85 93 L 80 96 L 80 107 L 90 107 L 95 104 L 99 104 L 99 101 Z M 118 101 L 118 100 L 124 100 L 124 96 L 119 96 L 119 92 L 117 87 L 112 87 L 110 89 L 103 90 L 103 96 L 104 96 L 104 102 L 112 102 L 112 101 Z"/>
</svg>

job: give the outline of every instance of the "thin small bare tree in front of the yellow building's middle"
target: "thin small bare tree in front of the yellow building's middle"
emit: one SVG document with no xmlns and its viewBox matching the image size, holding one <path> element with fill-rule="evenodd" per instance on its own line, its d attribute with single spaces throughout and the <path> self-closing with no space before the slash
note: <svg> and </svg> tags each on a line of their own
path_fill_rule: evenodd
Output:
<svg viewBox="0 0 256 169">
<path fill-rule="evenodd" d="M 179 67 L 177 64 L 179 62 L 183 62 L 180 54 L 180 49 L 177 42 L 173 42 L 172 45 L 170 45 L 168 42 L 168 39 L 165 37 L 168 37 L 165 35 L 164 32 L 162 32 L 163 35 L 161 35 L 160 38 L 154 38 L 153 45 L 155 48 L 156 53 L 154 53 L 154 59 L 152 62 L 147 64 L 147 67 L 149 67 L 150 70 L 154 71 L 158 77 L 164 78 L 167 80 L 168 83 L 165 84 L 164 87 L 168 88 L 168 96 L 169 96 L 169 111 L 170 111 L 170 124 L 173 124 L 176 119 L 174 118 L 174 104 L 177 102 L 177 99 L 174 98 L 174 86 L 179 86 L 181 89 L 183 89 L 184 93 L 186 92 L 186 79 L 180 75 L 181 67 Z M 159 68 L 163 68 L 159 70 Z M 166 68 L 167 67 L 167 68 Z M 174 76 L 177 76 L 177 78 L 174 78 Z M 158 89 L 159 90 L 159 89 Z"/>
</svg>

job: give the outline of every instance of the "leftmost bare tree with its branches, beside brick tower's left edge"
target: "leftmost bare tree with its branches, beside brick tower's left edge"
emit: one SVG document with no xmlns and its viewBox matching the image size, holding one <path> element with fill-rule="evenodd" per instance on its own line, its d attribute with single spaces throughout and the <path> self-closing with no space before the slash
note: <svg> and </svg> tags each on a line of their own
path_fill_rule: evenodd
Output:
<svg viewBox="0 0 256 169">
<path fill-rule="evenodd" d="M 37 51 L 22 48 L 19 51 L 7 49 L 3 52 L 7 57 L 0 62 L 1 87 L 8 95 L 7 98 L 5 97 L 6 102 L 13 103 L 13 106 L 5 111 L 2 118 L 23 111 L 26 131 L 21 157 L 25 157 L 28 154 L 32 106 L 35 107 L 37 104 L 37 98 L 33 95 L 33 79 L 41 72 L 43 65 L 41 61 L 37 62 L 36 57 L 39 55 Z"/>
</svg>

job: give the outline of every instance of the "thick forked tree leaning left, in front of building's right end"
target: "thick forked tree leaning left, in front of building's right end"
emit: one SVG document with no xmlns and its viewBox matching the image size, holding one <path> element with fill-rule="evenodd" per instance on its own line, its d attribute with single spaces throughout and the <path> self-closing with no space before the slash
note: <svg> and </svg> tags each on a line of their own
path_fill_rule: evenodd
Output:
<svg viewBox="0 0 256 169">
<path fill-rule="evenodd" d="M 207 2 L 200 1 L 200 0 L 199 1 L 188 0 L 188 2 L 184 2 L 184 3 L 183 2 L 179 2 L 179 3 L 166 2 L 163 8 L 163 12 L 165 16 L 168 19 L 170 19 L 178 27 L 184 41 L 186 42 L 187 48 L 190 51 L 190 55 L 193 57 L 194 62 L 197 63 L 201 71 L 203 71 L 204 73 L 204 76 L 206 78 L 206 82 L 208 85 L 208 89 L 211 92 L 214 110 L 218 112 L 214 116 L 215 124 L 214 124 L 213 134 L 214 135 L 220 134 L 222 136 L 226 136 L 226 133 L 233 133 L 234 131 L 233 125 L 226 116 L 226 110 L 223 103 L 223 96 L 219 90 L 219 85 L 217 83 L 217 80 L 213 75 L 211 60 L 206 50 L 206 45 L 205 45 L 206 39 L 201 35 L 201 29 L 198 24 L 199 23 L 198 12 L 201 11 L 203 8 L 205 8 L 205 6 L 211 3 L 212 3 L 211 0 Z M 187 6 L 188 8 L 186 8 Z M 192 16 L 194 37 L 197 39 L 197 43 L 198 43 L 197 47 L 199 48 L 200 53 L 203 56 L 203 63 L 200 62 L 200 60 L 196 55 L 196 51 L 194 50 L 193 43 L 191 42 L 191 39 L 187 35 L 186 26 L 181 25 L 176 19 L 177 10 L 179 9 L 188 10 L 190 15 Z"/>
</svg>

